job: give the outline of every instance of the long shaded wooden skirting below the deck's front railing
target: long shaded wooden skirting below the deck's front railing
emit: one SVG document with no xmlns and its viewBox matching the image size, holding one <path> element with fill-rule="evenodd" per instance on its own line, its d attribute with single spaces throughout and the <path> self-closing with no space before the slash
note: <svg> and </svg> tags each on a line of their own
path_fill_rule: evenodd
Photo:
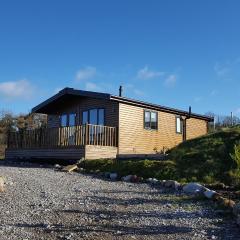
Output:
<svg viewBox="0 0 240 240">
<path fill-rule="evenodd" d="M 76 159 L 79 160 L 85 155 L 84 146 L 78 148 L 54 148 L 54 149 L 6 149 L 5 158 L 59 158 L 59 159 Z"/>
</svg>

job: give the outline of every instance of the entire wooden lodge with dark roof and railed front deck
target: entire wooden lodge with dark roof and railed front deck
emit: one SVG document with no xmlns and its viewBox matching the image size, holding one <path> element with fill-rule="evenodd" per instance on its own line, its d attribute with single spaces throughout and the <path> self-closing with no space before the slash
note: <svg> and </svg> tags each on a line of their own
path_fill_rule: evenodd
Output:
<svg viewBox="0 0 240 240">
<path fill-rule="evenodd" d="M 47 127 L 10 132 L 6 158 L 154 157 L 204 135 L 204 115 L 121 96 L 65 88 L 32 109 Z"/>
</svg>

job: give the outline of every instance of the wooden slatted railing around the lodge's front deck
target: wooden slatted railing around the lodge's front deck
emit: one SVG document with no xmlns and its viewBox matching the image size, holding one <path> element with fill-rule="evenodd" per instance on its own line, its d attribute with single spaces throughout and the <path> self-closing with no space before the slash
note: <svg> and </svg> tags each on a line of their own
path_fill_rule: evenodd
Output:
<svg viewBox="0 0 240 240">
<path fill-rule="evenodd" d="M 58 148 L 83 145 L 117 146 L 117 128 L 84 124 L 9 132 L 8 148 Z"/>
</svg>

